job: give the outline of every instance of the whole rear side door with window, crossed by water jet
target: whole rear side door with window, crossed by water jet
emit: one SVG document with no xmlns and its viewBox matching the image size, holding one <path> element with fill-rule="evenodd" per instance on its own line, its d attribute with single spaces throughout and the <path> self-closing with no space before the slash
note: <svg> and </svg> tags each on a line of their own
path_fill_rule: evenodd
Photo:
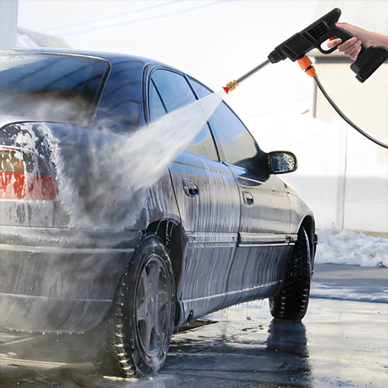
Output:
<svg viewBox="0 0 388 388">
<path fill-rule="evenodd" d="M 192 82 L 195 82 L 192 80 Z M 149 115 L 156 120 L 195 101 L 188 79 L 171 69 L 152 69 Z M 222 307 L 239 229 L 239 191 L 219 161 L 208 125 L 169 165 L 187 245 L 177 285 L 185 319 Z"/>
</svg>

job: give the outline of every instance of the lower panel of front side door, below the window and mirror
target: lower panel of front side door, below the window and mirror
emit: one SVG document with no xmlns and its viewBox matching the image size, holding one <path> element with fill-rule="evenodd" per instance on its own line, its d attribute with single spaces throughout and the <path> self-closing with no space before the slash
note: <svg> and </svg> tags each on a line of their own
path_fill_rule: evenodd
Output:
<svg viewBox="0 0 388 388">
<path fill-rule="evenodd" d="M 241 222 L 228 290 L 281 285 L 292 249 L 287 239 L 290 208 L 285 186 L 275 176 L 261 178 L 238 166 L 231 169 L 239 186 Z M 256 291 L 261 295 L 263 289 Z M 253 297 L 255 292 L 250 290 L 249 295 Z M 243 295 L 240 297 L 244 299 Z"/>
</svg>

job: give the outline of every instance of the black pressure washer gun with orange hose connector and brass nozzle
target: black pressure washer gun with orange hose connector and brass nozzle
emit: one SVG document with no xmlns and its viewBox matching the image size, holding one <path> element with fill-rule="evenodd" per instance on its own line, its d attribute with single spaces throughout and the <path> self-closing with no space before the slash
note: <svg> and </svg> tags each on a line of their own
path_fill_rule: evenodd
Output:
<svg viewBox="0 0 388 388">
<path fill-rule="evenodd" d="M 244 74 L 239 79 L 230 81 L 223 89 L 227 93 L 236 89 L 236 86 L 247 79 L 252 74 L 258 72 L 269 63 L 278 63 L 286 58 L 292 60 L 292 62 L 298 61 L 300 67 L 307 72 L 310 76 L 314 76 L 315 70 L 312 67 L 311 61 L 304 56 L 307 52 L 318 49 L 323 54 L 330 54 L 337 47 L 331 47 L 329 50 L 324 50 L 321 45 L 326 40 L 332 40 L 334 38 L 341 38 L 342 42 L 353 38 L 354 35 L 336 26 L 336 22 L 341 16 L 341 10 L 334 8 L 326 15 L 319 18 L 314 23 L 310 24 L 307 28 L 296 33 L 291 38 L 285 40 L 281 45 L 275 47 L 275 50 L 268 55 L 268 59 L 250 72 Z M 388 50 L 386 47 L 366 47 L 364 43 L 361 44 L 361 51 L 358 54 L 357 59 L 350 65 L 350 69 L 355 72 L 355 78 L 360 82 L 364 82 L 380 65 L 388 58 Z"/>
</svg>

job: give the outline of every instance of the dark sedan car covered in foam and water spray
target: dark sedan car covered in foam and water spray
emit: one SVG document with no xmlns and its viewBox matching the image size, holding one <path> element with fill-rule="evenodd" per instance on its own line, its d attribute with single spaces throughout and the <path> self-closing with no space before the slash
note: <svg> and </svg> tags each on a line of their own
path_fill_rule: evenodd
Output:
<svg viewBox="0 0 388 388">
<path fill-rule="evenodd" d="M 211 95 L 196 79 L 126 55 L 0 55 L 0 329 L 96 331 L 98 369 L 141 376 L 174 327 L 218 309 L 269 298 L 303 318 L 316 235 L 276 176 L 292 153 L 263 152 L 220 102 L 169 159 L 174 132 L 149 123 Z"/>
</svg>

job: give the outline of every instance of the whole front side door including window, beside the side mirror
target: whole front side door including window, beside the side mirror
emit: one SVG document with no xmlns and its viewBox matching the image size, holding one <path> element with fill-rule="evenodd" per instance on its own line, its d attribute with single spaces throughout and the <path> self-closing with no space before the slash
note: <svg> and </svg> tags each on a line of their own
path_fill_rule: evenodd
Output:
<svg viewBox="0 0 388 388">
<path fill-rule="evenodd" d="M 239 245 L 227 286 L 229 297 L 238 302 L 265 295 L 283 278 L 290 253 L 290 205 L 283 181 L 268 174 L 266 153 L 227 104 L 209 121 L 239 187 Z"/>
</svg>

